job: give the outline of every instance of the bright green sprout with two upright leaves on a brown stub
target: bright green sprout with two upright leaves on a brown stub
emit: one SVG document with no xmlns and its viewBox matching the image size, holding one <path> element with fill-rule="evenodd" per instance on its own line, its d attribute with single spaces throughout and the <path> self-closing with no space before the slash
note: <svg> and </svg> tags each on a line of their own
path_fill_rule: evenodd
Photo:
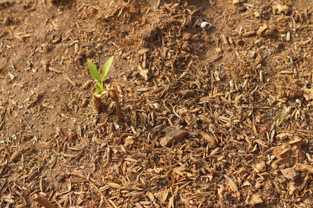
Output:
<svg viewBox="0 0 313 208">
<path fill-rule="evenodd" d="M 95 91 L 96 91 L 94 94 L 95 96 L 102 97 L 104 94 L 109 93 L 108 87 L 106 87 L 106 89 L 104 89 L 103 87 L 103 80 L 106 77 L 106 74 L 109 72 L 109 69 L 113 62 L 113 58 L 114 58 L 114 55 L 104 64 L 102 68 L 102 76 L 100 76 L 99 71 L 97 70 L 95 65 L 89 60 L 89 58 L 87 59 L 88 68 L 89 68 L 89 72 L 91 76 L 93 76 L 93 78 L 99 81 L 97 82 L 97 86 L 95 86 Z"/>
</svg>

